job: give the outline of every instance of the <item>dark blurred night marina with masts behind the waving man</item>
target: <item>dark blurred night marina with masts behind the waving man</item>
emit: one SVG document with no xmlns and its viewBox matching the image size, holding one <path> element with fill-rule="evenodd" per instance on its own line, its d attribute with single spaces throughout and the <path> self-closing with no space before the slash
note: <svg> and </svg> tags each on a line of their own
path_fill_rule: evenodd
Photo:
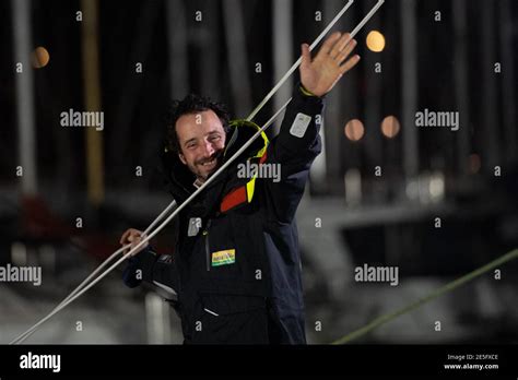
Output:
<svg viewBox="0 0 518 380">
<path fill-rule="evenodd" d="M 28 146 L 20 115 L 30 110 L 17 108 L 16 81 L 25 73 L 15 73 L 14 1 L 0 0 L 0 263 L 40 265 L 44 283 L 0 284 L 0 343 L 50 311 L 118 248 L 126 228 L 144 229 L 170 202 L 157 170 L 170 99 L 195 92 L 245 118 L 298 58 L 299 45 L 346 2 L 20 1 L 30 20 L 21 56 L 33 75 Z M 76 21 L 86 3 L 97 14 L 93 63 L 84 61 L 92 54 L 84 49 L 89 19 Z M 333 29 L 352 31 L 375 3 L 356 0 Z M 297 214 L 310 343 L 330 343 L 517 248 L 517 16 L 513 0 L 387 0 L 356 36 L 362 60 L 327 95 L 325 152 Z M 373 29 L 385 36 L 381 52 L 367 48 Z M 50 60 L 34 69 L 27 52 L 38 46 Z M 97 68 L 95 83 L 85 81 L 87 64 Z M 269 119 L 297 78 L 256 122 Z M 93 110 L 104 111 L 104 130 L 62 128 L 62 111 L 87 109 L 89 88 L 98 91 L 101 109 Z M 459 130 L 417 128 L 414 115 L 425 108 L 459 111 Z M 401 124 L 392 138 L 380 129 L 387 116 Z M 352 119 L 364 126 L 358 141 L 344 133 Z M 101 140 L 87 143 L 87 133 Z M 98 198 L 87 175 L 95 155 L 89 144 L 102 152 Z M 28 188 L 16 176 L 27 150 L 35 156 L 24 177 L 37 173 Z M 154 242 L 164 253 L 168 234 Z M 354 282 L 354 268 L 364 263 L 397 265 L 400 284 Z M 152 289 L 126 288 L 120 269 L 27 342 L 181 343 L 174 312 Z M 488 272 L 357 342 L 516 343 L 518 261 L 499 270 L 501 280 Z"/>
</svg>

